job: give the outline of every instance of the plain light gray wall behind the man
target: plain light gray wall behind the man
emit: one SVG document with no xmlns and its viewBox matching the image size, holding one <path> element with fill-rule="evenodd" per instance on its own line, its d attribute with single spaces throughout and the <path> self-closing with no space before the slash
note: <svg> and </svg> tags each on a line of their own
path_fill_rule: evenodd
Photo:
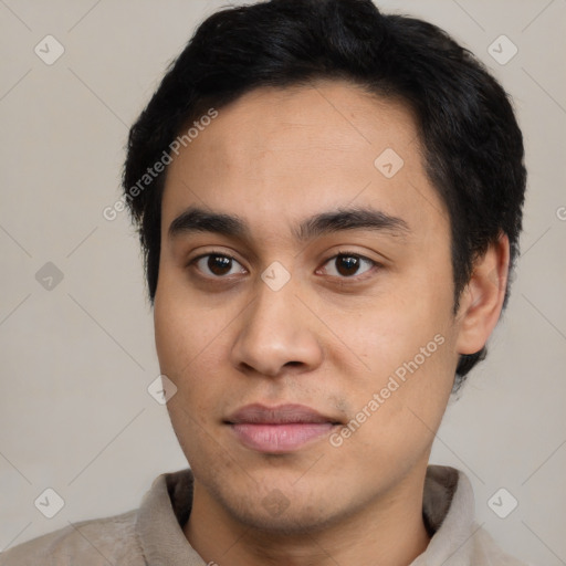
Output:
<svg viewBox="0 0 566 566">
<path fill-rule="evenodd" d="M 243 2 L 238 2 L 243 3 Z M 202 0 L 0 0 L 0 548 L 136 507 L 187 465 L 165 407 L 137 239 L 119 197 L 128 125 L 206 15 Z M 476 516 L 533 564 L 566 564 L 566 1 L 382 1 L 476 53 L 514 97 L 526 137 L 523 256 L 489 359 L 451 402 L 431 461 L 464 470 Z M 65 52 L 46 65 L 34 46 Z M 518 53 L 488 48 L 507 35 Z M 560 218 L 563 220 L 560 220 Z M 51 291 L 35 273 L 53 262 Z M 34 506 L 46 489 L 65 502 Z M 488 500 L 518 500 L 506 518 Z"/>
</svg>

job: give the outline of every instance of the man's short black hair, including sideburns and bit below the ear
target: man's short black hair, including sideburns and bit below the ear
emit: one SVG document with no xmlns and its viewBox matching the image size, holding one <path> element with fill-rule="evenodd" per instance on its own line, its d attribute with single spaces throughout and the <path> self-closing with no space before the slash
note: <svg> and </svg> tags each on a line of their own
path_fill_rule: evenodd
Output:
<svg viewBox="0 0 566 566">
<path fill-rule="evenodd" d="M 501 234 L 510 240 L 511 275 L 526 186 L 523 136 L 510 96 L 486 67 L 440 28 L 384 14 L 370 0 L 270 0 L 206 19 L 130 128 L 123 189 L 151 303 L 167 169 L 150 178 L 148 169 L 207 109 L 258 87 L 315 80 L 346 80 L 413 111 L 427 175 L 450 217 L 454 312 L 475 259 Z M 454 390 L 485 354 L 461 356 Z"/>
</svg>

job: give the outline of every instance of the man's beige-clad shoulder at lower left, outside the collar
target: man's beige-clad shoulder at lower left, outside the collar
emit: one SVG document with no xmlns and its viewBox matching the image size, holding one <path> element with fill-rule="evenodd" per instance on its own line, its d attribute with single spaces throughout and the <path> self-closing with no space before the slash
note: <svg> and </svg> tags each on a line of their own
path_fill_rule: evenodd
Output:
<svg viewBox="0 0 566 566">
<path fill-rule="evenodd" d="M 137 513 L 70 524 L 1 553 L 0 566 L 145 565 L 135 533 Z"/>
</svg>

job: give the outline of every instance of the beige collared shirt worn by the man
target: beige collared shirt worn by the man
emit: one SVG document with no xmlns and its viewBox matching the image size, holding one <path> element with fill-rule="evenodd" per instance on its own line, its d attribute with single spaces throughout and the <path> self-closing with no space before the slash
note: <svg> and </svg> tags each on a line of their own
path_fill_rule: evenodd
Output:
<svg viewBox="0 0 566 566">
<path fill-rule="evenodd" d="M 139 509 L 20 544 L 0 554 L 0 566 L 206 566 L 182 532 L 191 504 L 191 471 L 161 474 Z M 472 485 L 463 472 L 429 465 L 422 513 L 434 534 L 409 566 L 525 566 L 474 522 Z"/>
</svg>

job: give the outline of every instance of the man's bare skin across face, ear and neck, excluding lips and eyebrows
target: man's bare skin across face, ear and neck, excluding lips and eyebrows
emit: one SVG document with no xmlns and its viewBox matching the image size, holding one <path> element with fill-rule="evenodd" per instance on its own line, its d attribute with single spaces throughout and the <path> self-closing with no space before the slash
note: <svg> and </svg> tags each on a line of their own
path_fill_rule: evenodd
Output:
<svg viewBox="0 0 566 566">
<path fill-rule="evenodd" d="M 389 179 L 374 165 L 386 148 L 403 159 Z M 354 205 L 409 230 L 294 238 L 306 217 Z M 238 214 L 250 239 L 170 235 L 190 206 Z M 478 352 L 501 313 L 506 238 L 476 262 L 454 316 L 448 213 L 413 116 L 342 81 L 255 90 L 219 109 L 169 166 L 161 220 L 156 345 L 195 474 L 189 543 L 220 566 L 410 564 L 430 539 L 423 481 L 459 355 Z M 380 266 L 345 273 L 344 251 Z M 191 263 L 211 252 L 235 261 Z M 275 261 L 291 275 L 279 291 L 261 279 Z M 248 403 L 291 402 L 345 426 L 437 335 L 442 345 L 339 447 L 324 437 L 262 453 L 224 423 Z"/>
</svg>

